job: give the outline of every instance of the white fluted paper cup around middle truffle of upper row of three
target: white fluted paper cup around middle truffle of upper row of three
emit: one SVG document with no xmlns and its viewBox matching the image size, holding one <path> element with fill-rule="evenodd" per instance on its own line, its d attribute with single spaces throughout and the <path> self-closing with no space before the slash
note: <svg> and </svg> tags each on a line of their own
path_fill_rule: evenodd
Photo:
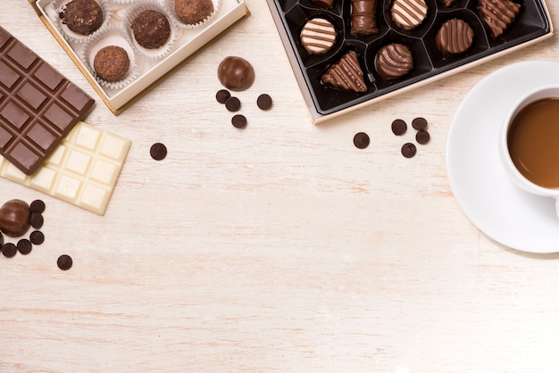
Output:
<svg viewBox="0 0 559 373">
<path fill-rule="evenodd" d="M 132 41 L 132 46 L 136 48 L 139 54 L 143 54 L 149 58 L 154 58 L 154 59 L 162 58 L 166 54 L 169 54 L 169 52 L 171 51 L 171 47 L 177 40 L 177 25 L 175 24 L 175 21 L 169 14 L 169 12 L 163 7 L 163 4 L 161 4 L 159 1 L 146 0 L 143 2 L 137 1 L 137 3 L 138 4 L 129 6 L 128 11 L 126 12 L 125 17 L 123 18 L 124 20 L 126 20 L 124 21 L 124 23 L 126 25 L 126 28 L 128 29 L 129 38 Z M 163 13 L 163 15 L 167 17 L 167 20 L 169 21 L 169 26 L 171 27 L 171 35 L 169 36 L 167 42 L 163 46 L 156 49 L 150 49 L 144 46 L 140 46 L 138 44 L 138 41 L 136 41 L 136 37 L 134 37 L 134 32 L 132 31 L 131 28 L 132 21 L 134 21 L 134 19 L 138 16 L 138 14 L 140 12 L 144 12 L 147 10 L 153 10 L 153 11 Z"/>
</svg>

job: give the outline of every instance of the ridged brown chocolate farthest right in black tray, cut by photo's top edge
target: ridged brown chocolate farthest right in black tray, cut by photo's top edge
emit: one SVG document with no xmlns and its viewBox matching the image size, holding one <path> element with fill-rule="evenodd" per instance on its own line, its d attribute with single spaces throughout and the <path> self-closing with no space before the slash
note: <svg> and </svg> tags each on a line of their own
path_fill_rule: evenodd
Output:
<svg viewBox="0 0 559 373">
<path fill-rule="evenodd" d="M 478 2 L 481 20 L 489 29 L 494 39 L 501 37 L 513 24 L 521 11 L 521 4 L 510 0 L 480 0 Z"/>
</svg>

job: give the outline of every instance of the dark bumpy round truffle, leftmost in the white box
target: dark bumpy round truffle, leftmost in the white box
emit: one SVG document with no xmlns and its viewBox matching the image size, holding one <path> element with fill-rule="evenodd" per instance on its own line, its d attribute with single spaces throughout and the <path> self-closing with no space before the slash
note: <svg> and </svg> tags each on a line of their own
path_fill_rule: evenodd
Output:
<svg viewBox="0 0 559 373">
<path fill-rule="evenodd" d="M 103 24 L 103 9 L 95 0 L 72 0 L 60 12 L 63 23 L 80 35 L 91 35 Z"/>
</svg>

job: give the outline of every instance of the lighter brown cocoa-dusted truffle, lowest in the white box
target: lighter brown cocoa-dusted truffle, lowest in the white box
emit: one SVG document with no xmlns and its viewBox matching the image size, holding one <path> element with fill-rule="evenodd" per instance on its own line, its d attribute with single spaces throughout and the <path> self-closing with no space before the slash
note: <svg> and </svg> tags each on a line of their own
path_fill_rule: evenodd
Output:
<svg viewBox="0 0 559 373">
<path fill-rule="evenodd" d="M 129 66 L 129 56 L 121 46 L 105 46 L 97 52 L 93 62 L 99 78 L 111 82 L 123 79 Z"/>
</svg>

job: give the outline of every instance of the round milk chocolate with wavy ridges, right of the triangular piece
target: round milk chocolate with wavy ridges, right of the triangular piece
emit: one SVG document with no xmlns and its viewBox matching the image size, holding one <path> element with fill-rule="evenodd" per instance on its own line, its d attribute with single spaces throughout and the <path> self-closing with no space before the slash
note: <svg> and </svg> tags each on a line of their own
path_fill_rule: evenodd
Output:
<svg viewBox="0 0 559 373">
<path fill-rule="evenodd" d="M 375 68 L 383 79 L 396 79 L 413 69 L 413 55 L 403 44 L 388 44 L 375 57 Z"/>
</svg>

